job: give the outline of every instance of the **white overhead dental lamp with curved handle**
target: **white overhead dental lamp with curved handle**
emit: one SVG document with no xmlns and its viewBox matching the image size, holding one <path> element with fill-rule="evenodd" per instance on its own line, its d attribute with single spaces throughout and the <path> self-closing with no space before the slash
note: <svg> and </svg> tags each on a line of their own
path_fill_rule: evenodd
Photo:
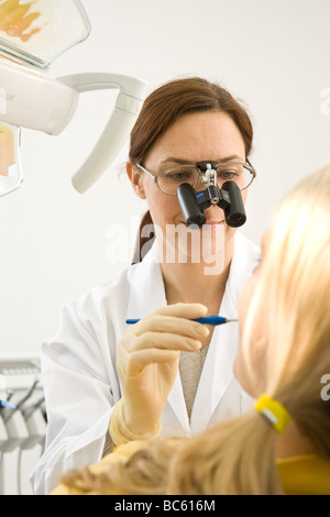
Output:
<svg viewBox="0 0 330 517">
<path fill-rule="evenodd" d="M 82 194 L 123 147 L 144 101 L 147 84 L 112 73 L 55 78 L 48 67 L 90 33 L 79 0 L 0 0 L 0 196 L 23 179 L 21 128 L 58 135 L 73 119 L 79 95 L 118 89 L 116 106 L 91 154 L 73 177 Z"/>
</svg>

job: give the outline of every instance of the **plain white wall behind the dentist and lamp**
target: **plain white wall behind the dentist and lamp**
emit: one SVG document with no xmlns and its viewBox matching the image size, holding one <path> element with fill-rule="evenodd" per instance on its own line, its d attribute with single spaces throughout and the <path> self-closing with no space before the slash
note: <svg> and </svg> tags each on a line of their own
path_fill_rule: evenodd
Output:
<svg viewBox="0 0 330 517">
<path fill-rule="evenodd" d="M 256 243 L 280 197 L 330 158 L 329 0 L 82 0 L 91 35 L 54 76 L 117 72 L 145 79 L 201 75 L 249 107 L 257 169 L 242 231 Z M 133 248 L 145 205 L 118 173 L 127 150 L 87 194 L 70 184 L 112 109 L 113 94 L 81 96 L 58 138 L 23 131 L 23 186 L 0 199 L 0 358 L 37 353 L 67 300 L 116 278 L 109 229 Z M 323 112 L 322 112 L 323 111 Z"/>
</svg>

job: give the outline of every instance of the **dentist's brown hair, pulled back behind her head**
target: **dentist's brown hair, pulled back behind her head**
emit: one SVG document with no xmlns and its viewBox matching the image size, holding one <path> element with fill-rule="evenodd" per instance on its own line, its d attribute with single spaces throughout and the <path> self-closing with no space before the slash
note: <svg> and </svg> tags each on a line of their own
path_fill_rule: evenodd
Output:
<svg viewBox="0 0 330 517">
<path fill-rule="evenodd" d="M 131 132 L 129 160 L 132 165 L 143 163 L 157 139 L 186 113 L 221 111 L 228 113 L 237 124 L 244 141 L 246 158 L 252 151 L 253 128 L 242 103 L 216 82 L 200 77 L 176 79 L 154 90 L 144 101 L 140 116 Z M 150 212 L 144 216 L 138 235 L 134 262 L 140 262 L 143 244 L 140 242 L 145 224 L 150 224 Z"/>
</svg>

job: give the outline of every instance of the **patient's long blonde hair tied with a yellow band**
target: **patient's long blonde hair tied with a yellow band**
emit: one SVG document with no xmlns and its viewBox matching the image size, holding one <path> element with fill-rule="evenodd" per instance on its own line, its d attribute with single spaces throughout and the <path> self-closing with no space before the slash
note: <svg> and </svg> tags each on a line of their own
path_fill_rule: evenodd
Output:
<svg viewBox="0 0 330 517">
<path fill-rule="evenodd" d="M 246 369 L 254 393 L 280 402 L 330 460 L 330 403 L 321 398 L 321 377 L 330 373 L 330 166 L 284 199 L 266 242 L 242 338 Z M 265 304 L 271 331 L 261 369 L 251 336 Z M 84 477 L 99 493 L 280 494 L 276 438 L 252 410 L 190 439 L 151 442 L 100 476 L 85 469 L 66 481 Z"/>
</svg>

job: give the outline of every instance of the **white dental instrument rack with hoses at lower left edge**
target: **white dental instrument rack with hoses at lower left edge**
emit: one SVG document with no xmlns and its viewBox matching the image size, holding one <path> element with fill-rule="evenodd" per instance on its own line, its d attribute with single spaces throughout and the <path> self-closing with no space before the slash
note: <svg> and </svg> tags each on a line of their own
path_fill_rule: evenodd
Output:
<svg viewBox="0 0 330 517">
<path fill-rule="evenodd" d="M 30 494 L 26 473 L 43 453 L 47 425 L 40 358 L 2 351 L 0 381 L 0 496 Z"/>
</svg>

